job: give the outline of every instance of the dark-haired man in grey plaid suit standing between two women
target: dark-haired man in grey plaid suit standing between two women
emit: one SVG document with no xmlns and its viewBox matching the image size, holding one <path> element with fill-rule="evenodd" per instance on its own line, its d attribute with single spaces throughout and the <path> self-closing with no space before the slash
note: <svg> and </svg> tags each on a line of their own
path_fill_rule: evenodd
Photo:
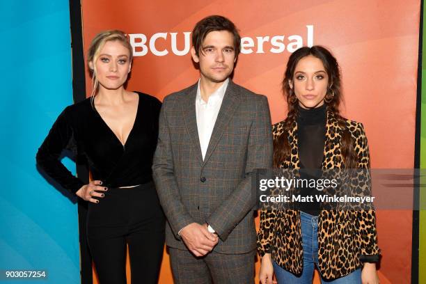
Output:
<svg viewBox="0 0 426 284">
<path fill-rule="evenodd" d="M 240 49 L 229 19 L 202 19 L 192 44 L 200 79 L 164 99 L 152 166 L 168 219 L 173 278 L 175 283 L 253 283 L 251 175 L 272 164 L 267 97 L 229 79 Z"/>
</svg>

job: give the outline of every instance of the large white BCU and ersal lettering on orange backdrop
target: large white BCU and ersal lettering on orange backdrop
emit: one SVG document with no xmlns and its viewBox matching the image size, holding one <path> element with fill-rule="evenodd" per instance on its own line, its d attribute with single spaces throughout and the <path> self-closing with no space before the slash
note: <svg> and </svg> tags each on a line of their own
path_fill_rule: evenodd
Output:
<svg viewBox="0 0 426 284">
<path fill-rule="evenodd" d="M 287 52 L 294 52 L 299 47 L 313 46 L 313 25 L 306 26 L 306 35 L 292 35 L 292 36 L 256 36 L 255 38 L 244 37 L 241 39 L 241 53 L 242 54 L 264 54 L 271 52 L 274 54 Z M 183 45 L 182 42 L 183 35 Z M 149 52 L 155 56 L 166 56 L 170 52 L 184 56 L 189 53 L 191 48 L 191 32 L 184 31 L 182 34 L 178 33 L 154 33 L 151 38 L 147 38 L 143 33 L 129 33 L 130 44 L 133 47 L 134 56 L 145 56 Z M 179 40 L 179 42 L 178 42 Z M 158 47 L 161 45 L 161 48 Z M 170 47 L 170 48 L 168 48 Z"/>
</svg>

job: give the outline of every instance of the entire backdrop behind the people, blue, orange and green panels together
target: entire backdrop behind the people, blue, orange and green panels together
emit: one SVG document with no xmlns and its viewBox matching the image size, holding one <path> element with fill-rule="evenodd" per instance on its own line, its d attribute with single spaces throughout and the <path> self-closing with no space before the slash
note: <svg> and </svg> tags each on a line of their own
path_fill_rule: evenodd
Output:
<svg viewBox="0 0 426 284">
<path fill-rule="evenodd" d="M 72 104 L 69 7 L 65 0 L 0 3 L 0 51 L 7 58 L 0 70 L 0 283 L 27 283 L 6 278 L 6 271 L 19 269 L 39 271 L 43 283 L 81 280 L 76 198 L 46 179 L 35 161 L 49 127 Z M 99 31 L 125 31 L 135 55 L 127 89 L 163 100 L 198 80 L 191 30 L 213 14 L 239 28 L 242 53 L 233 79 L 267 95 L 273 123 L 286 117 L 281 81 L 288 57 L 304 45 L 324 45 L 341 66 L 342 113 L 365 127 L 372 168 L 413 168 L 420 1 L 81 0 L 84 50 Z M 88 94 L 90 84 L 86 70 Z M 423 150 L 425 121 L 423 114 Z M 74 171 L 70 159 L 63 161 Z M 411 282 L 416 222 L 410 209 L 378 210 L 381 283 Z M 420 222 L 420 240 L 425 232 Z M 425 255 L 420 242 L 420 283 L 426 281 Z M 159 283 L 173 283 L 166 249 Z"/>
</svg>

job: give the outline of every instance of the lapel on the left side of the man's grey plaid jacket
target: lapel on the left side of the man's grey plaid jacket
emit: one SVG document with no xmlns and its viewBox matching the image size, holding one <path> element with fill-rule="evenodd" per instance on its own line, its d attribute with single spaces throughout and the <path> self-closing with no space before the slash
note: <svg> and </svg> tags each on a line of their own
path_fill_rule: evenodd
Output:
<svg viewBox="0 0 426 284">
<path fill-rule="evenodd" d="M 191 137 L 191 147 L 196 152 L 196 157 L 200 165 L 203 164 L 203 155 L 201 154 L 200 139 L 198 139 L 197 116 L 196 116 L 196 95 L 198 83 L 189 87 L 185 98 L 182 100 L 182 116 L 187 127 L 189 137 Z"/>
</svg>

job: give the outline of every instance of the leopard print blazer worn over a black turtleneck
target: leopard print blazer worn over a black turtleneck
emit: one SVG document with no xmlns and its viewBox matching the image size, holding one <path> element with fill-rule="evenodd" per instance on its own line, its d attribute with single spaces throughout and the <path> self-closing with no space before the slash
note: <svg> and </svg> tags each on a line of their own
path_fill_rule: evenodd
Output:
<svg viewBox="0 0 426 284">
<path fill-rule="evenodd" d="M 327 111 L 326 143 L 322 168 L 342 168 L 340 152 L 341 132 L 332 111 Z M 272 127 L 274 139 L 284 132 L 284 123 Z M 368 169 L 370 155 L 367 138 L 361 123 L 347 120 L 354 149 L 358 155 L 358 168 Z M 297 123 L 288 133 L 290 157 L 280 168 L 300 168 L 297 148 Z M 368 171 L 367 171 L 368 172 Z M 369 172 L 368 172 L 369 173 Z M 365 175 L 365 171 L 363 171 Z M 362 180 L 359 177 L 356 180 Z M 365 177 L 364 177 L 365 179 Z M 370 195 L 370 186 L 357 184 L 364 196 Z M 299 276 L 303 269 L 301 221 L 299 210 L 261 210 L 258 232 L 260 256 L 271 253 L 272 259 L 283 269 Z M 321 210 L 318 219 L 318 268 L 322 278 L 331 280 L 350 274 L 362 267 L 365 260 L 379 259 L 376 217 L 374 210 Z"/>
</svg>

